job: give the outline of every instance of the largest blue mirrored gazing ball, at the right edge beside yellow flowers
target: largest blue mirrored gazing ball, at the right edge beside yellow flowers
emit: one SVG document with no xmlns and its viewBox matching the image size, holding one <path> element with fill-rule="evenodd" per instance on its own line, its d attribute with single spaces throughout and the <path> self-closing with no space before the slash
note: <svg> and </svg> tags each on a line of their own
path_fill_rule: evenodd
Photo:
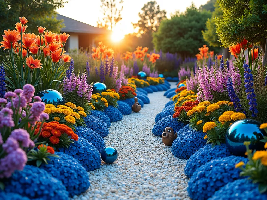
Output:
<svg viewBox="0 0 267 200">
<path fill-rule="evenodd" d="M 245 141 L 250 142 L 249 149 L 264 150 L 264 143 L 260 142 L 267 136 L 264 129 L 260 129 L 261 122 L 253 119 L 241 119 L 234 122 L 226 131 L 225 143 L 230 152 L 237 156 L 244 156 Z"/>
</svg>

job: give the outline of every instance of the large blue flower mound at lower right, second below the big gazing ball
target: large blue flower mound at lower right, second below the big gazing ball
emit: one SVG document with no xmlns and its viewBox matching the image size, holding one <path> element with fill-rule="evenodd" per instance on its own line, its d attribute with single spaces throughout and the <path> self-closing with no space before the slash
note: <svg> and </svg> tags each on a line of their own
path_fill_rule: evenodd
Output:
<svg viewBox="0 0 267 200">
<path fill-rule="evenodd" d="M 241 169 L 235 169 L 238 162 L 248 159 L 240 156 L 229 156 L 207 162 L 198 168 L 188 182 L 187 191 L 193 200 L 204 200 L 229 182 L 244 177 L 239 176 Z"/>
</svg>

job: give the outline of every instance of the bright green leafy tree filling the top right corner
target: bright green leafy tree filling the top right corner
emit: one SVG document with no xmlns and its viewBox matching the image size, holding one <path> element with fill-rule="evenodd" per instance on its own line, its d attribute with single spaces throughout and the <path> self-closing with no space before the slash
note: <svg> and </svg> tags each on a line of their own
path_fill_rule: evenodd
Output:
<svg viewBox="0 0 267 200">
<path fill-rule="evenodd" d="M 267 63 L 267 2 L 266 0 L 218 0 L 223 11 L 222 18 L 215 18 L 216 32 L 224 47 L 247 39 L 260 44 L 264 53 L 263 65 Z M 265 41 L 265 42 L 264 42 Z"/>
</svg>

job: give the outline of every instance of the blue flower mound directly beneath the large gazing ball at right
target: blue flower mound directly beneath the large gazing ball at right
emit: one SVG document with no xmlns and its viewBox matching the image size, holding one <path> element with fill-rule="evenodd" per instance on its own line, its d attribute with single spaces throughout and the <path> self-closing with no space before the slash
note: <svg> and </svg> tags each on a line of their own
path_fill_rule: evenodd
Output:
<svg viewBox="0 0 267 200">
<path fill-rule="evenodd" d="M 188 178 L 190 178 L 193 173 L 206 162 L 230 155 L 231 153 L 225 144 L 215 145 L 214 147 L 207 144 L 189 158 L 186 163 L 186 167 L 184 168 L 184 173 Z"/>
</svg>

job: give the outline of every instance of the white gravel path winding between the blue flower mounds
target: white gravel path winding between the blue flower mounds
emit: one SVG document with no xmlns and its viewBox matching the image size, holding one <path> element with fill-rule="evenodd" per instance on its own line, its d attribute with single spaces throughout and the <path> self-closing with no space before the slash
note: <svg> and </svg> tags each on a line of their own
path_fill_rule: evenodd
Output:
<svg viewBox="0 0 267 200">
<path fill-rule="evenodd" d="M 91 186 L 74 199 L 190 199 L 184 175 L 186 159 L 175 158 L 170 147 L 151 132 L 155 116 L 169 101 L 163 94 L 148 94 L 150 104 L 139 113 L 111 123 L 105 144 L 117 149 L 118 158 L 89 172 Z"/>
</svg>

